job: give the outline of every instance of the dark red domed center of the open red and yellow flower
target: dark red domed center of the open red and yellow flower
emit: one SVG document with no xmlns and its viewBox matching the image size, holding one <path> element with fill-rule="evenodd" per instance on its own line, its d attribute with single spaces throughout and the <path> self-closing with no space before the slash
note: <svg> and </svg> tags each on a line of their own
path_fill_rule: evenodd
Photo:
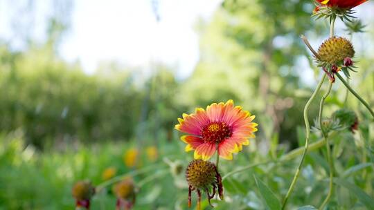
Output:
<svg viewBox="0 0 374 210">
<path fill-rule="evenodd" d="M 224 122 L 212 122 L 203 128 L 202 138 L 204 142 L 220 143 L 226 138 L 231 137 L 233 132 Z"/>
</svg>

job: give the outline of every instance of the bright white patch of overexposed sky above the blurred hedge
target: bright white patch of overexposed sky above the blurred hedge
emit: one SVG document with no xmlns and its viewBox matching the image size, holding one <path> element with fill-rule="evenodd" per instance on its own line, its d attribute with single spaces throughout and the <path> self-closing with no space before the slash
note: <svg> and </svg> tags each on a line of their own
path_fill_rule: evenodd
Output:
<svg viewBox="0 0 374 210">
<path fill-rule="evenodd" d="M 176 65 L 186 77 L 199 58 L 194 24 L 211 17 L 219 0 L 159 0 L 157 23 L 152 0 L 75 1 L 68 37 L 60 53 L 69 61 L 79 59 L 87 72 L 100 61 L 145 66 L 149 61 Z"/>
</svg>

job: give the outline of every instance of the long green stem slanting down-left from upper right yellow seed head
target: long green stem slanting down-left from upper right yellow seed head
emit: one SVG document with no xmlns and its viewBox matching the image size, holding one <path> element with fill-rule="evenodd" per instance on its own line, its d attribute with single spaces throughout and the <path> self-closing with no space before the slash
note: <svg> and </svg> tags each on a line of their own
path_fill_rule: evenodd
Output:
<svg viewBox="0 0 374 210">
<path fill-rule="evenodd" d="M 283 200 L 282 209 L 285 209 L 285 206 L 287 204 L 287 200 L 288 200 L 288 198 L 290 198 L 290 195 L 291 195 L 292 191 L 294 191 L 294 187 L 296 185 L 296 182 L 299 179 L 301 168 L 303 167 L 305 156 L 308 153 L 308 146 L 309 146 L 309 139 L 310 139 L 310 124 L 309 124 L 309 118 L 308 118 L 308 111 L 309 111 L 310 104 L 312 104 L 314 98 L 316 97 L 317 93 L 321 89 L 321 86 L 323 84 L 323 81 L 325 81 L 325 78 L 326 78 L 326 74 L 323 74 L 323 77 L 322 77 L 321 81 L 319 82 L 316 90 L 314 90 L 314 93 L 312 94 L 309 101 L 307 102 L 307 104 L 305 104 L 305 107 L 304 107 L 304 121 L 305 121 L 305 129 L 306 129 L 304 151 L 303 151 L 303 155 L 301 156 L 299 166 L 296 169 L 294 179 L 292 180 L 290 188 L 288 189 L 287 194 L 285 195 L 285 200 Z"/>
</svg>

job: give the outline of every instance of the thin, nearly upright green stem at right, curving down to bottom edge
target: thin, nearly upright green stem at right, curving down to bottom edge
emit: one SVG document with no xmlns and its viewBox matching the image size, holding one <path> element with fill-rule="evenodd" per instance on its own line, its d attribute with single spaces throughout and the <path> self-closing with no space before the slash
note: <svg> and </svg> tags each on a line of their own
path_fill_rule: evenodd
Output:
<svg viewBox="0 0 374 210">
<path fill-rule="evenodd" d="M 323 106 L 325 104 L 326 98 L 328 97 L 328 95 L 330 95 L 332 84 L 333 84 L 332 82 L 329 82 L 328 90 L 325 93 L 325 95 L 323 95 L 323 97 L 321 98 L 321 103 L 319 104 L 318 121 L 319 121 L 319 126 L 321 127 L 321 132 L 322 132 L 323 138 L 326 140 L 327 158 L 328 158 L 328 163 L 329 163 L 329 168 L 330 168 L 330 184 L 329 184 L 328 195 L 326 196 L 325 200 L 323 200 L 323 203 L 321 204 L 321 207 L 319 207 L 320 210 L 322 210 L 323 207 L 326 206 L 326 204 L 328 203 L 328 201 L 331 198 L 332 191 L 334 190 L 334 185 L 333 185 L 333 182 L 332 182 L 332 179 L 334 178 L 334 174 L 333 174 L 334 173 L 334 164 L 333 164 L 332 155 L 331 155 L 331 151 L 330 151 L 330 144 L 328 143 L 328 132 L 326 132 L 326 130 L 324 130 L 323 124 L 322 124 Z"/>
</svg>

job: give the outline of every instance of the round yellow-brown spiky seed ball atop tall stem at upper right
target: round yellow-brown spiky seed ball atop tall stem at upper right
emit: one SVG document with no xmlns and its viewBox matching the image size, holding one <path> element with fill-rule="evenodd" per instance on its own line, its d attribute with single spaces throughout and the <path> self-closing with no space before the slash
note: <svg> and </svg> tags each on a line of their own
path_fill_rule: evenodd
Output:
<svg viewBox="0 0 374 210">
<path fill-rule="evenodd" d="M 344 62 L 347 57 L 355 56 L 353 45 L 344 37 L 331 37 L 319 47 L 318 55 L 321 61 L 335 65 Z"/>
</svg>

